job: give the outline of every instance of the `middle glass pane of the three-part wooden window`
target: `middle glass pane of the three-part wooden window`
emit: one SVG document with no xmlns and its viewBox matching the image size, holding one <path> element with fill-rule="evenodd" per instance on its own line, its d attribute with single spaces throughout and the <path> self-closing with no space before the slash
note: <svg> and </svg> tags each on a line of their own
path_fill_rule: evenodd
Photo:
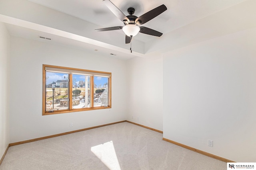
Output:
<svg viewBox="0 0 256 170">
<path fill-rule="evenodd" d="M 90 107 L 90 76 L 72 74 L 72 107 Z"/>
</svg>

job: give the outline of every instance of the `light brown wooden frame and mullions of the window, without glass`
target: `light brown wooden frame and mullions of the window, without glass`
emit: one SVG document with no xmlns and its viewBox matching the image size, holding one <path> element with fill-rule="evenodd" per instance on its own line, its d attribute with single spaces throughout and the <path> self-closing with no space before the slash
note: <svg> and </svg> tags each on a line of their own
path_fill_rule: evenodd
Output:
<svg viewBox="0 0 256 170">
<path fill-rule="evenodd" d="M 67 69 L 67 70 L 75 70 L 75 71 L 84 71 L 84 72 L 92 72 L 95 75 L 90 76 L 90 107 L 87 108 L 76 108 L 72 109 L 72 74 L 69 74 L 69 81 L 68 81 L 68 89 L 69 89 L 69 109 L 65 110 L 54 110 L 54 111 L 46 111 L 46 68 L 60 68 L 60 69 Z M 108 106 L 97 106 L 94 107 L 94 76 L 97 74 L 109 74 L 108 77 Z M 70 112 L 77 112 L 77 111 L 88 111 L 88 110 L 98 110 L 98 109 L 110 109 L 111 108 L 111 72 L 102 72 L 102 71 L 93 71 L 93 70 L 84 70 L 79 68 L 69 68 L 69 67 L 62 67 L 62 66 L 52 66 L 43 64 L 43 93 L 42 93 L 42 115 L 52 115 L 52 114 L 59 114 L 59 113 L 70 113 Z"/>
</svg>

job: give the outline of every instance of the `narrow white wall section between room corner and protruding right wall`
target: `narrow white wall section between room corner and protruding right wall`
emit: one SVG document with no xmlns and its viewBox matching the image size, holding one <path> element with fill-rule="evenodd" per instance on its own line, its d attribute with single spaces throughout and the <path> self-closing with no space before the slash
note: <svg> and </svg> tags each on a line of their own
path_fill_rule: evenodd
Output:
<svg viewBox="0 0 256 170">
<path fill-rule="evenodd" d="M 162 59 L 133 58 L 127 61 L 127 120 L 163 130 Z"/>
</svg>

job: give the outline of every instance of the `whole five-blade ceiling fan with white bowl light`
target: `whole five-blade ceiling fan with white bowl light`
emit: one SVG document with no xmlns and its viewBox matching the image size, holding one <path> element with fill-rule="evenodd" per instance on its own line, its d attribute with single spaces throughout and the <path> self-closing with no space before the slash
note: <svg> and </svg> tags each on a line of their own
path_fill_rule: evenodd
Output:
<svg viewBox="0 0 256 170">
<path fill-rule="evenodd" d="M 140 33 L 153 35 L 160 37 L 163 33 L 160 33 L 154 29 L 150 29 L 148 27 L 138 26 L 142 25 L 156 16 L 162 14 L 162 12 L 166 11 L 167 8 L 164 4 L 154 8 L 153 10 L 143 14 L 140 17 L 134 16 L 135 9 L 134 8 L 128 8 L 128 16 L 125 16 L 122 11 L 120 11 L 110 0 L 103 0 L 105 5 L 110 9 L 113 14 L 124 23 L 124 26 L 116 26 L 116 27 L 108 27 L 108 28 L 101 28 L 101 29 L 95 29 L 95 31 L 111 31 L 111 30 L 117 30 L 122 29 L 125 36 L 125 43 L 128 44 L 131 42 L 132 37 Z"/>
</svg>

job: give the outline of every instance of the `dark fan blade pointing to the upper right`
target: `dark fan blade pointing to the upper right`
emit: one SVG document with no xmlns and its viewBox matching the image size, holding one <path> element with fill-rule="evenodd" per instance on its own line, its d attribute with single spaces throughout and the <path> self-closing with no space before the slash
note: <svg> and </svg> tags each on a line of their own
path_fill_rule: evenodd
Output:
<svg viewBox="0 0 256 170">
<path fill-rule="evenodd" d="M 162 14 L 162 12 L 166 11 L 167 8 L 164 4 L 154 8 L 153 10 L 143 14 L 142 16 L 138 17 L 136 20 L 135 20 L 135 23 L 137 25 L 141 25 L 141 24 L 144 24 L 150 20 L 152 20 L 153 18 L 155 18 L 156 16 Z"/>
</svg>

